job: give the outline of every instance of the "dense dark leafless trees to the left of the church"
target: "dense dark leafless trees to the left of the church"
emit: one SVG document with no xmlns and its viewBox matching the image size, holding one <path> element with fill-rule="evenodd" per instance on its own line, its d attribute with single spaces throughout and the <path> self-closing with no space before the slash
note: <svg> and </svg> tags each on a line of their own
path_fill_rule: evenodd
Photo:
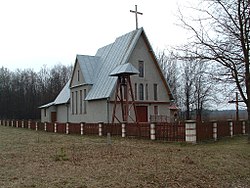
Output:
<svg viewBox="0 0 250 188">
<path fill-rule="evenodd" d="M 55 99 L 70 78 L 71 66 L 61 64 L 39 72 L 0 68 L 0 118 L 39 119 L 42 104 Z"/>
</svg>

